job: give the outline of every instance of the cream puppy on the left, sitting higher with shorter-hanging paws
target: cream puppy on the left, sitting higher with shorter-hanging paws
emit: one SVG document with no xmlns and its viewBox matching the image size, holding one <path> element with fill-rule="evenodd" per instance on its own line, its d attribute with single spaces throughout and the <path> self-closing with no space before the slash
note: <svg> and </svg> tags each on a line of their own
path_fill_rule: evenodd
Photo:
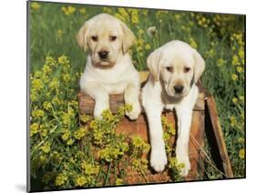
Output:
<svg viewBox="0 0 256 193">
<path fill-rule="evenodd" d="M 132 105 L 127 116 L 138 118 L 140 82 L 128 55 L 134 40 L 128 26 L 108 14 L 96 15 L 80 28 L 77 42 L 89 53 L 80 88 L 95 99 L 95 117 L 109 108 L 109 94 L 124 94 L 125 103 Z"/>
</svg>

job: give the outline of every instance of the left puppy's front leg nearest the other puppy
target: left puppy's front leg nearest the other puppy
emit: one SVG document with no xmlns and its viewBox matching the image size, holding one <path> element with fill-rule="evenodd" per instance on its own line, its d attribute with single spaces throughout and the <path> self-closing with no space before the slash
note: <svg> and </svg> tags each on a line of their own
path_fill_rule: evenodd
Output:
<svg viewBox="0 0 256 193">
<path fill-rule="evenodd" d="M 131 120 L 136 120 L 140 114 L 141 109 L 138 102 L 139 88 L 139 84 L 129 83 L 125 89 L 125 103 L 132 105 L 132 110 L 127 112 L 126 115 Z"/>
</svg>

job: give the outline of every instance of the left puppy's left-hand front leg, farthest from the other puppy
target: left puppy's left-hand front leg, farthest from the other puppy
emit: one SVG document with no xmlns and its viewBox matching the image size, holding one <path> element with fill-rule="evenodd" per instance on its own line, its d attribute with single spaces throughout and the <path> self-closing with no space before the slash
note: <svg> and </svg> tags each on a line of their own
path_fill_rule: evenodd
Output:
<svg viewBox="0 0 256 193">
<path fill-rule="evenodd" d="M 95 100 L 94 117 L 101 117 L 103 110 L 109 109 L 109 96 L 108 92 L 99 84 L 95 82 L 87 82 L 81 84 L 81 89 L 87 95 Z"/>
</svg>

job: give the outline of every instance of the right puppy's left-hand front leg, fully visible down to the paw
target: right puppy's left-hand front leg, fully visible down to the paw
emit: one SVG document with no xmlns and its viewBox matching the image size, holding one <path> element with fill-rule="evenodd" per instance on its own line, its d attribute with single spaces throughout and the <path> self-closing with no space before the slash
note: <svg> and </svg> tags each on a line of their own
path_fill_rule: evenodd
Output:
<svg viewBox="0 0 256 193">
<path fill-rule="evenodd" d="M 150 104 L 151 105 L 151 104 Z M 145 107 L 148 117 L 149 137 L 151 145 L 150 166 L 157 172 L 162 172 L 167 164 L 165 143 L 161 124 L 162 107 Z"/>
</svg>

